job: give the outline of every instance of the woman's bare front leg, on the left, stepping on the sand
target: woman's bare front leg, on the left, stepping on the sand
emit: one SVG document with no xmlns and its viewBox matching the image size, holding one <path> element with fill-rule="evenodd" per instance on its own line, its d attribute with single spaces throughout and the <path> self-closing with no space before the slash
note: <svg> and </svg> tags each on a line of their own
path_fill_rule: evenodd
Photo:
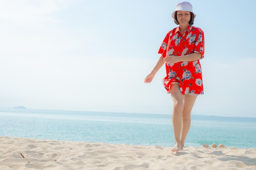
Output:
<svg viewBox="0 0 256 170">
<path fill-rule="evenodd" d="M 182 129 L 182 110 L 183 110 L 183 95 L 180 93 L 180 85 L 173 84 L 169 91 L 173 99 L 173 132 L 175 138 L 175 146 L 171 149 L 172 152 L 181 150 L 180 134 Z"/>
</svg>

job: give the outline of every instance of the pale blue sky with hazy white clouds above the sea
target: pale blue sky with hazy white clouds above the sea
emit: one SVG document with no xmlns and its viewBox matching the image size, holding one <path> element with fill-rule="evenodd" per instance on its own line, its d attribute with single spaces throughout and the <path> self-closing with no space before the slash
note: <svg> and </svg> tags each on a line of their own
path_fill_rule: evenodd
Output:
<svg viewBox="0 0 256 170">
<path fill-rule="evenodd" d="M 0 107 L 171 114 L 162 67 L 173 0 L 1 0 Z M 256 117 L 256 1 L 191 0 L 205 36 L 192 114 Z"/>
</svg>

